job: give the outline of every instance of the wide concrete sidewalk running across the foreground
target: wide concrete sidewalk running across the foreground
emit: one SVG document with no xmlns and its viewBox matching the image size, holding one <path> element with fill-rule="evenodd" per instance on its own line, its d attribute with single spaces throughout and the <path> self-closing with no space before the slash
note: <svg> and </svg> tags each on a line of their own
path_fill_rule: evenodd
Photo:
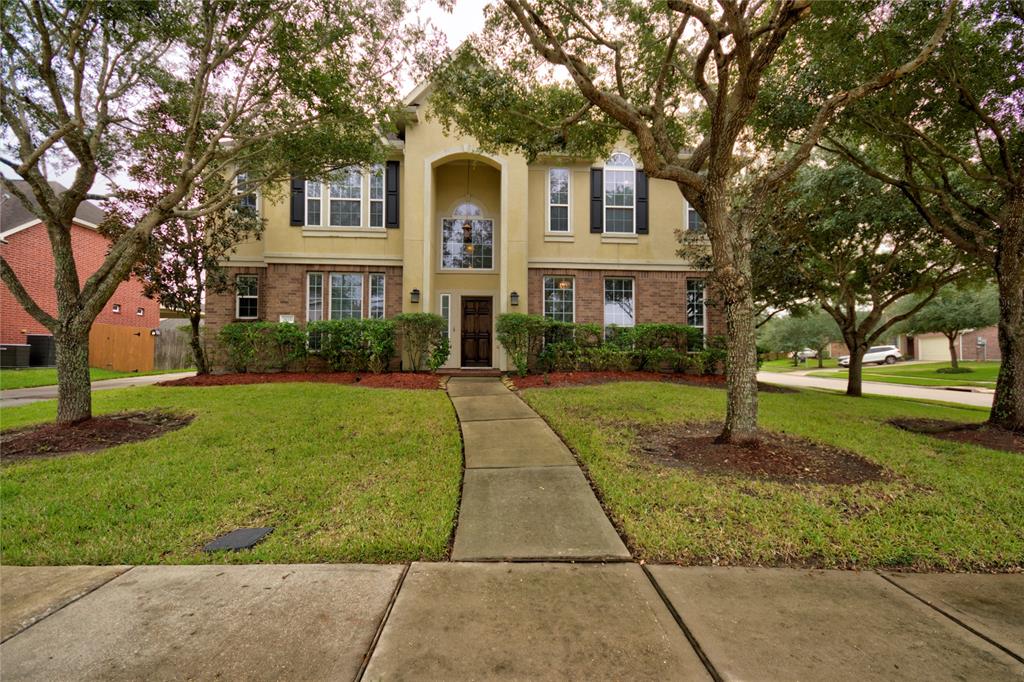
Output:
<svg viewBox="0 0 1024 682">
<path fill-rule="evenodd" d="M 5 682 L 1024 679 L 1022 574 L 4 566 L 0 623 Z"/>
</svg>

